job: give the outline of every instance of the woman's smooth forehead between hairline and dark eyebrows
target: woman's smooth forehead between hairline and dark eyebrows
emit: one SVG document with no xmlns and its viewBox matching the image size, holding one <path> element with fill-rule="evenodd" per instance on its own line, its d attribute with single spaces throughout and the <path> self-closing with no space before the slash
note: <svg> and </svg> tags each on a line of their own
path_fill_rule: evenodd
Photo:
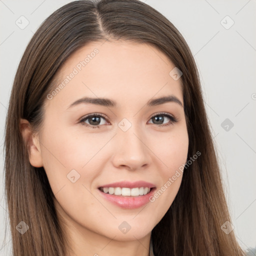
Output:
<svg viewBox="0 0 256 256">
<path fill-rule="evenodd" d="M 173 68 L 163 52 L 146 43 L 90 42 L 71 54 L 58 70 L 53 90 L 62 86 L 50 102 L 67 105 L 78 96 L 98 96 L 114 98 L 119 105 L 165 94 L 182 101 L 181 81 L 169 74 Z"/>
</svg>

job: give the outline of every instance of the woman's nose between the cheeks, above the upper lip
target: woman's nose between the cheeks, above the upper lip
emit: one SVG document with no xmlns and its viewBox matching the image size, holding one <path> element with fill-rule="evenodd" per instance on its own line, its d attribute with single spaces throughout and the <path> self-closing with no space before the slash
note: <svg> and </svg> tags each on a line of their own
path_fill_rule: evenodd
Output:
<svg viewBox="0 0 256 256">
<path fill-rule="evenodd" d="M 127 131 L 119 129 L 114 137 L 112 164 L 117 168 L 137 170 L 151 162 L 146 136 L 131 126 Z"/>
</svg>

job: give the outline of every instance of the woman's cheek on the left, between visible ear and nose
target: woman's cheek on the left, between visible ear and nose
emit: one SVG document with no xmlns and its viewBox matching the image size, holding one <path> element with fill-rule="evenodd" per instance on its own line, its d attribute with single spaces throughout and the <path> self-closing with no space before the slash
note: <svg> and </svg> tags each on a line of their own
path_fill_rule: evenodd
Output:
<svg viewBox="0 0 256 256">
<path fill-rule="evenodd" d="M 85 134 L 80 129 L 77 132 L 76 129 L 57 126 L 53 122 L 45 125 L 41 137 L 41 152 L 43 167 L 53 193 L 75 180 L 75 184 L 84 184 L 90 189 L 91 182 L 99 174 L 97 170 L 101 169 L 101 160 L 107 157 L 101 149 L 111 136 L 112 134 Z M 77 189 L 77 186 L 71 189 Z"/>
</svg>

